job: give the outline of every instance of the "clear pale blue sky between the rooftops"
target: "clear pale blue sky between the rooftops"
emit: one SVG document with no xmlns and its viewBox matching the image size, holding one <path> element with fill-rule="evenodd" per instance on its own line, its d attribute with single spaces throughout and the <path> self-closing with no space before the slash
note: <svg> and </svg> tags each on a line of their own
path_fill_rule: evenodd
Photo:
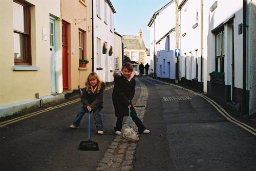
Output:
<svg viewBox="0 0 256 171">
<path fill-rule="evenodd" d="M 153 14 L 168 2 L 170 0 L 111 0 L 116 10 L 115 32 L 120 35 L 138 36 L 141 29 L 144 43 L 150 48 L 150 31 L 147 30 L 147 24 Z"/>
</svg>

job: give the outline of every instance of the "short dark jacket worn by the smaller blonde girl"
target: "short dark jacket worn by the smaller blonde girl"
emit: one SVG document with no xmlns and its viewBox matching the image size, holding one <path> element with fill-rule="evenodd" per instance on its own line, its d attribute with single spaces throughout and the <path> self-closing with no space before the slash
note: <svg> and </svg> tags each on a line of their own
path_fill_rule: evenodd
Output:
<svg viewBox="0 0 256 171">
<path fill-rule="evenodd" d="M 93 110 L 103 108 L 103 90 L 105 88 L 105 83 L 101 83 L 101 88 L 99 92 L 88 92 L 86 89 L 81 95 L 82 108 L 87 109 L 87 106 L 90 106 Z"/>
</svg>

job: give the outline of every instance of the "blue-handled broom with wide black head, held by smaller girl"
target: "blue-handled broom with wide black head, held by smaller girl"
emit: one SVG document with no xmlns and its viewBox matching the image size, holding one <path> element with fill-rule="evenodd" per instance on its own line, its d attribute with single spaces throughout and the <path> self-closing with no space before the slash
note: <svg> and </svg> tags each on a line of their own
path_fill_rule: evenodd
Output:
<svg viewBox="0 0 256 171">
<path fill-rule="evenodd" d="M 98 142 L 91 141 L 90 140 L 90 110 L 88 110 L 88 141 L 81 141 L 79 144 L 79 150 L 85 150 L 85 151 L 97 151 L 99 150 Z"/>
</svg>

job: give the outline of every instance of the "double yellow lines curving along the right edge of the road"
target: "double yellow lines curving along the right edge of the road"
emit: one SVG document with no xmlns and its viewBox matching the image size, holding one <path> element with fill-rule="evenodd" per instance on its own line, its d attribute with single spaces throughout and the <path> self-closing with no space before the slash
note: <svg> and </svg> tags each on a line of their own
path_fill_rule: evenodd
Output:
<svg viewBox="0 0 256 171">
<path fill-rule="evenodd" d="M 153 79 L 152 79 L 153 80 Z M 227 120 L 229 120 L 230 122 L 240 126 L 241 128 L 245 129 L 246 131 L 250 132 L 251 134 L 253 135 L 256 135 L 256 130 L 244 123 L 241 123 L 241 121 L 233 118 L 232 116 L 230 116 L 220 105 L 218 105 L 215 101 L 211 100 L 209 97 L 203 95 L 203 94 L 200 94 L 200 93 L 196 93 L 194 92 L 193 90 L 189 90 L 187 88 L 184 88 L 184 87 L 181 87 L 181 86 L 178 86 L 178 85 L 175 85 L 175 84 L 171 84 L 171 83 L 166 83 L 166 82 L 163 82 L 163 81 L 160 81 L 160 80 L 157 80 L 159 82 L 162 82 L 162 83 L 165 83 L 165 84 L 169 84 L 169 85 L 172 85 L 172 86 L 175 86 L 175 87 L 178 87 L 178 88 L 181 88 L 181 89 L 184 89 L 184 90 L 187 90 L 189 92 L 192 92 L 194 93 L 195 95 L 199 95 L 201 97 L 203 97 L 206 101 L 208 101 L 212 106 L 214 106 L 224 117 L 227 118 Z"/>
</svg>

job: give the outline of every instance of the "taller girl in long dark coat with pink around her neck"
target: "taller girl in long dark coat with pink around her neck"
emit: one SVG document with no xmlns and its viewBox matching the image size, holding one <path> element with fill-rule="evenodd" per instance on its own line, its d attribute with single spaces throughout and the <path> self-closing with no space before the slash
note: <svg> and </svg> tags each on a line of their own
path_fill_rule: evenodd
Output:
<svg viewBox="0 0 256 171">
<path fill-rule="evenodd" d="M 116 135 L 122 135 L 123 117 L 129 116 L 129 107 L 131 117 L 138 127 L 139 133 L 150 133 L 137 116 L 136 110 L 132 104 L 136 86 L 133 65 L 125 63 L 120 72 L 114 73 L 114 81 L 112 101 L 115 109 L 115 116 L 117 117 L 116 127 L 114 128 Z"/>
</svg>

